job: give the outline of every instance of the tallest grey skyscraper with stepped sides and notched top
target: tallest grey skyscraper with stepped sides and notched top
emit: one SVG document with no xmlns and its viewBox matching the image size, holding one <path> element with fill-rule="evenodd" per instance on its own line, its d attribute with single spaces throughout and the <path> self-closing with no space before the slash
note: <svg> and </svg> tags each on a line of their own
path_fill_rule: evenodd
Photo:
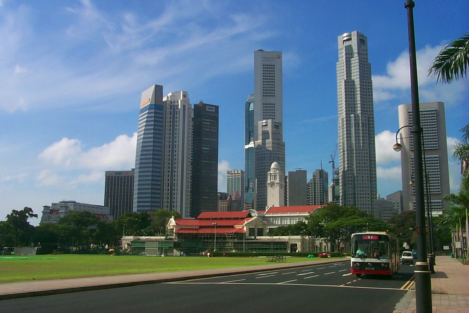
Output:
<svg viewBox="0 0 469 313">
<path fill-rule="evenodd" d="M 337 105 L 340 204 L 375 214 L 377 207 L 373 85 L 366 36 L 338 37 Z"/>
</svg>

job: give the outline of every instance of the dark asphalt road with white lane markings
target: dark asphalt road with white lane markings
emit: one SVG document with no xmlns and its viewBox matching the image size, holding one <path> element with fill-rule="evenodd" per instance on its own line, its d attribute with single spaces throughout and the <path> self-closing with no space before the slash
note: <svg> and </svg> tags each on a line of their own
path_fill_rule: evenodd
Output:
<svg viewBox="0 0 469 313">
<path fill-rule="evenodd" d="M 413 267 L 393 278 L 350 274 L 340 262 L 184 282 L 0 301 L 0 312 L 386 313 L 406 293 Z"/>
</svg>

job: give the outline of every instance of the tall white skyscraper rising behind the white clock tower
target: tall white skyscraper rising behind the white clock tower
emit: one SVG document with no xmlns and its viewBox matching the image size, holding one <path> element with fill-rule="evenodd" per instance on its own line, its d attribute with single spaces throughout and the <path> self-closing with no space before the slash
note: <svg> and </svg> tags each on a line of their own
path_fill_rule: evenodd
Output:
<svg viewBox="0 0 469 313">
<path fill-rule="evenodd" d="M 285 143 L 283 142 L 282 124 L 282 53 L 280 51 L 259 49 L 254 52 L 254 94 L 248 99 L 248 102 L 253 105 L 252 120 L 249 118 L 249 111 L 246 112 L 246 123 L 252 123 L 252 128 L 247 125 L 246 130 L 252 129 L 255 146 L 254 208 L 264 210 L 267 205 L 266 175 L 271 164 L 278 162 L 280 172 L 285 173 Z M 250 146 L 246 146 L 245 149 Z M 249 172 L 248 175 L 250 175 Z M 247 179 L 248 182 L 251 181 L 251 177 L 247 177 Z"/>
</svg>

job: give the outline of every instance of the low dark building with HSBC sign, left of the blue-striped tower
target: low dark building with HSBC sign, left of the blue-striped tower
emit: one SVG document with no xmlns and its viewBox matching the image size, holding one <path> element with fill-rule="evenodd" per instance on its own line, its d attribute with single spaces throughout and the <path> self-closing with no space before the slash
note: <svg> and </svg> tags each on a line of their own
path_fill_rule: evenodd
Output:
<svg viewBox="0 0 469 313">
<path fill-rule="evenodd" d="M 104 206 L 109 206 L 114 220 L 132 212 L 134 199 L 134 169 L 106 171 Z"/>
</svg>

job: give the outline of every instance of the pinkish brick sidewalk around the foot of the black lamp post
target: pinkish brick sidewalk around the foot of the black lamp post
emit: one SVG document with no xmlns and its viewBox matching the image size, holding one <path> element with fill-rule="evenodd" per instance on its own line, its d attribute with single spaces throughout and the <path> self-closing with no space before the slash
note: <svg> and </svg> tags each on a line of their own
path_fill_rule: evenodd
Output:
<svg viewBox="0 0 469 313">
<path fill-rule="evenodd" d="M 416 313 L 415 285 L 396 305 L 393 313 Z M 469 313 L 469 265 L 456 259 L 437 256 L 435 274 L 431 274 L 433 313 Z"/>
</svg>

